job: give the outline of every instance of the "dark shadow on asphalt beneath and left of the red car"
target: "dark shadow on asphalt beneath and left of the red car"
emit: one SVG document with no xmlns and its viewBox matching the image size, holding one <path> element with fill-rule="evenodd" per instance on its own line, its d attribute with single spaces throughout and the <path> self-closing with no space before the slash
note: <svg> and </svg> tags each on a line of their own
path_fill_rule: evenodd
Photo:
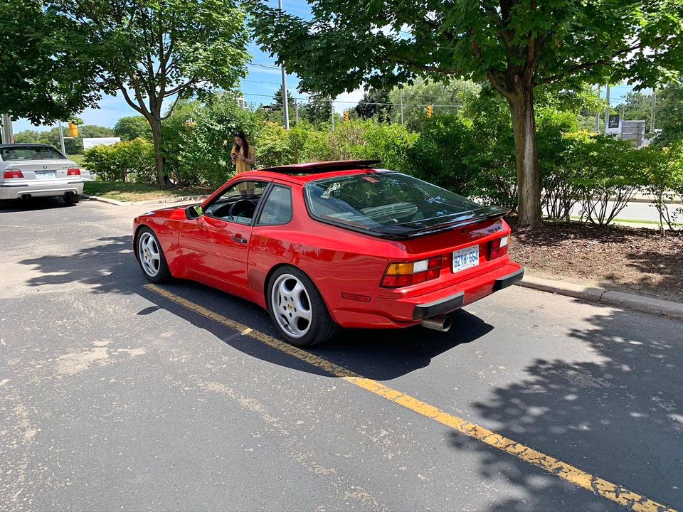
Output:
<svg viewBox="0 0 683 512">
<path fill-rule="evenodd" d="M 91 292 L 97 294 L 139 294 L 157 304 L 139 311 L 139 315 L 164 308 L 210 331 L 250 356 L 302 371 L 325 374 L 253 338 L 234 336 L 234 331 L 225 326 L 144 289 L 144 284 L 148 282 L 139 269 L 131 247 L 128 236 L 105 237 L 73 255 L 44 256 L 23 260 L 21 263 L 31 265 L 36 270 L 36 276 L 28 280 L 27 284 L 30 286 L 46 287 L 51 284 L 78 282 L 88 285 Z M 189 281 L 178 280 L 164 287 L 211 311 L 277 337 L 270 316 L 255 304 Z M 492 329 L 492 326 L 467 311 L 457 311 L 453 324 L 454 327 L 448 333 L 421 327 L 390 331 L 342 330 L 334 340 L 312 349 L 312 352 L 366 377 L 387 380 L 428 366 L 438 354 L 475 341 Z"/>
</svg>

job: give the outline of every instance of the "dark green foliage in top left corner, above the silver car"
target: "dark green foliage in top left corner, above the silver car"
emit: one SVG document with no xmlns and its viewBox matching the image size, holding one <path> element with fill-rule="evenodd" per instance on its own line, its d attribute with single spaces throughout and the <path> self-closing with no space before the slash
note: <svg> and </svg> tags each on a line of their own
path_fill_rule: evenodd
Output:
<svg viewBox="0 0 683 512">
<path fill-rule="evenodd" d="M 83 31 L 40 0 L 0 2 L 0 112 L 33 124 L 67 120 L 100 99 Z"/>
</svg>

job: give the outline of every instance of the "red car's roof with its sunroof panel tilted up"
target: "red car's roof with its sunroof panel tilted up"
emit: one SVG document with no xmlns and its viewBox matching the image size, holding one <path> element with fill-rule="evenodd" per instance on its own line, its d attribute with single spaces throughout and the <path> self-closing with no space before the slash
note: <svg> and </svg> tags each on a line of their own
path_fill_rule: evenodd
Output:
<svg viewBox="0 0 683 512">
<path fill-rule="evenodd" d="M 311 162 L 308 164 L 292 164 L 287 166 L 269 167 L 258 171 L 248 171 L 240 176 L 270 178 L 277 181 L 290 181 L 305 184 L 322 178 L 334 176 L 350 176 L 353 174 L 375 174 L 386 172 L 384 169 L 373 169 L 370 166 L 378 164 L 379 160 L 337 160 Z"/>
</svg>

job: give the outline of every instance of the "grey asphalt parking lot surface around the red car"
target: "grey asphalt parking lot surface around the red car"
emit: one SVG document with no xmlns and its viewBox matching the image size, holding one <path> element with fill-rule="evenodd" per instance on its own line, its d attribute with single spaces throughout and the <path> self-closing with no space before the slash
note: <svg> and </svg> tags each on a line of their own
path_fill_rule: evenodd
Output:
<svg viewBox="0 0 683 512">
<path fill-rule="evenodd" d="M 426 405 L 683 509 L 681 322 L 512 287 L 448 334 L 309 351 L 364 379 L 342 378 L 280 351 L 257 306 L 145 287 L 147 209 L 0 210 L 0 510 L 624 510 Z"/>
</svg>

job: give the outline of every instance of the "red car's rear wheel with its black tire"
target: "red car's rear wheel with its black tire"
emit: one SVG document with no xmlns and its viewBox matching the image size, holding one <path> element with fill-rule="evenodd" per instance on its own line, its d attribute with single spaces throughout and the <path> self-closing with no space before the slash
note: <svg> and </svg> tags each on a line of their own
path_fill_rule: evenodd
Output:
<svg viewBox="0 0 683 512">
<path fill-rule="evenodd" d="M 302 286 L 302 291 L 296 292 L 295 284 Z M 275 287 L 278 287 L 275 290 Z M 292 296 L 287 293 L 282 294 L 281 289 L 292 288 Z M 275 295 L 275 297 L 274 297 Z M 282 297 L 288 299 L 282 302 Z M 275 270 L 268 281 L 268 313 L 277 331 L 288 343 L 298 347 L 307 347 L 323 343 L 332 338 L 337 333 L 339 326 L 334 323 L 332 316 L 329 316 L 327 306 L 322 299 L 320 292 L 312 280 L 296 267 L 280 267 Z M 307 303 L 307 304 L 306 304 Z M 309 314 L 308 325 L 297 322 L 297 306 L 302 307 L 302 311 Z M 282 308 L 282 311 L 280 311 Z M 294 315 L 292 317 L 292 315 Z M 302 320 L 300 318 L 300 320 Z M 294 321 L 292 326 L 290 321 Z"/>
</svg>

